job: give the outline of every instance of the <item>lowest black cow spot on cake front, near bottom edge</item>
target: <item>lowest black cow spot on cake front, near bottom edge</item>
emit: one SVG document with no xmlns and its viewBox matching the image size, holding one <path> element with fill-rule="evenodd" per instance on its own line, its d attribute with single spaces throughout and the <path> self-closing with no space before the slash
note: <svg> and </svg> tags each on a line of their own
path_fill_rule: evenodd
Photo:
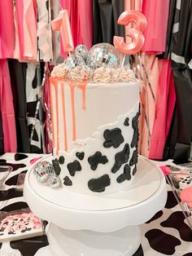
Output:
<svg viewBox="0 0 192 256">
<path fill-rule="evenodd" d="M 88 187 L 93 192 L 104 192 L 105 188 L 111 184 L 111 179 L 108 174 L 104 174 L 98 179 L 90 179 Z"/>
</svg>

